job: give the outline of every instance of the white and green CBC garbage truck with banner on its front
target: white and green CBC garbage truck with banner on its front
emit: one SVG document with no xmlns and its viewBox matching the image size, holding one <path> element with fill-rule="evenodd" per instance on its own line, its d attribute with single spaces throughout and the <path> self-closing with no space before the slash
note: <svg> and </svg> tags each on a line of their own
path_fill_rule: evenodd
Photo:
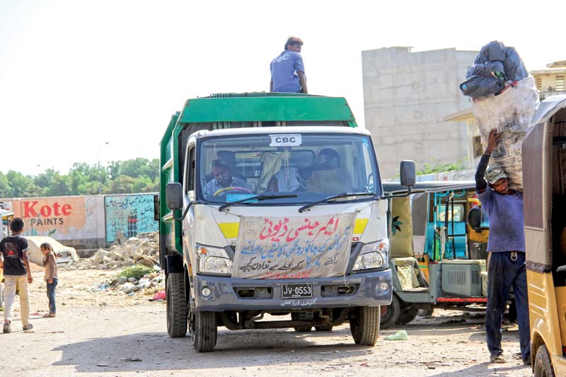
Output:
<svg viewBox="0 0 566 377">
<path fill-rule="evenodd" d="M 211 352 L 218 327 L 330 331 L 374 345 L 391 303 L 388 202 L 345 98 L 187 100 L 160 144 L 159 248 L 170 337 Z M 404 185 L 415 164 L 402 161 Z"/>
</svg>

